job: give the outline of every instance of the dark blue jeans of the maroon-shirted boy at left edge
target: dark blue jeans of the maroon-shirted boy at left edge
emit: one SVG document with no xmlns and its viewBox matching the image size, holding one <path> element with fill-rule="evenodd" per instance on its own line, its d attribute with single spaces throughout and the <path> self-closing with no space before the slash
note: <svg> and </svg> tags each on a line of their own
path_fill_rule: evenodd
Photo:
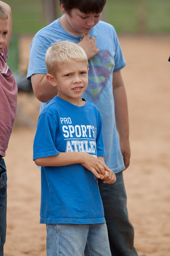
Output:
<svg viewBox="0 0 170 256">
<path fill-rule="evenodd" d="M 6 182 L 6 166 L 4 159 L 0 157 L 0 256 L 4 255 L 4 243 L 6 238 Z"/>
</svg>

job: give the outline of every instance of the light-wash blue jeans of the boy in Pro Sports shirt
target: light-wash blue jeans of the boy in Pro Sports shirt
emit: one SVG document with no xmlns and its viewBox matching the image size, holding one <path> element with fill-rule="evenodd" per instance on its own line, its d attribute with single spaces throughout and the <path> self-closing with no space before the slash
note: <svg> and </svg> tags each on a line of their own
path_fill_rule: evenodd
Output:
<svg viewBox="0 0 170 256">
<path fill-rule="evenodd" d="M 46 226 L 47 256 L 111 256 L 106 223 Z"/>
</svg>

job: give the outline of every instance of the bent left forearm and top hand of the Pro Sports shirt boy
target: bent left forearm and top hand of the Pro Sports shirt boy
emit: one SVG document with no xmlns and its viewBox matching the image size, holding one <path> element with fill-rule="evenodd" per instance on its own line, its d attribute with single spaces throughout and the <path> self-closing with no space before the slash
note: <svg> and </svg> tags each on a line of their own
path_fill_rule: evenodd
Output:
<svg viewBox="0 0 170 256">
<path fill-rule="evenodd" d="M 82 164 L 97 178 L 103 179 L 105 170 L 110 169 L 100 159 L 84 152 L 60 152 L 55 156 L 34 159 L 38 166 L 64 166 L 69 164 Z M 99 173 L 98 173 L 99 172 Z"/>
</svg>

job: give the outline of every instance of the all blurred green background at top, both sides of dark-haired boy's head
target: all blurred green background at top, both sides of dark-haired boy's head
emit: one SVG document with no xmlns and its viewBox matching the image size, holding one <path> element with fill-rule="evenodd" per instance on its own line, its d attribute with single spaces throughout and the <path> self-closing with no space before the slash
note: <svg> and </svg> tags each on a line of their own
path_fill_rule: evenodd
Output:
<svg viewBox="0 0 170 256">
<path fill-rule="evenodd" d="M 6 0 L 11 6 L 13 33 L 32 33 L 46 26 L 43 0 Z M 57 17 L 60 17 L 56 0 Z M 135 33 L 170 31 L 170 0 L 107 0 L 104 20 L 117 32 Z"/>
</svg>

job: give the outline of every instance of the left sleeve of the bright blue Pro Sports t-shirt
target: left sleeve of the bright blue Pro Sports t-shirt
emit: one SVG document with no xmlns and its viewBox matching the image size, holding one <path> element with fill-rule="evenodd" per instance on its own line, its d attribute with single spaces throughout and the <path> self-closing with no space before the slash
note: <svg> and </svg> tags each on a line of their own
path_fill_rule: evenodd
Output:
<svg viewBox="0 0 170 256">
<path fill-rule="evenodd" d="M 55 147 L 56 129 L 56 121 L 50 114 L 43 113 L 40 115 L 33 143 L 33 160 L 60 153 Z"/>
</svg>

